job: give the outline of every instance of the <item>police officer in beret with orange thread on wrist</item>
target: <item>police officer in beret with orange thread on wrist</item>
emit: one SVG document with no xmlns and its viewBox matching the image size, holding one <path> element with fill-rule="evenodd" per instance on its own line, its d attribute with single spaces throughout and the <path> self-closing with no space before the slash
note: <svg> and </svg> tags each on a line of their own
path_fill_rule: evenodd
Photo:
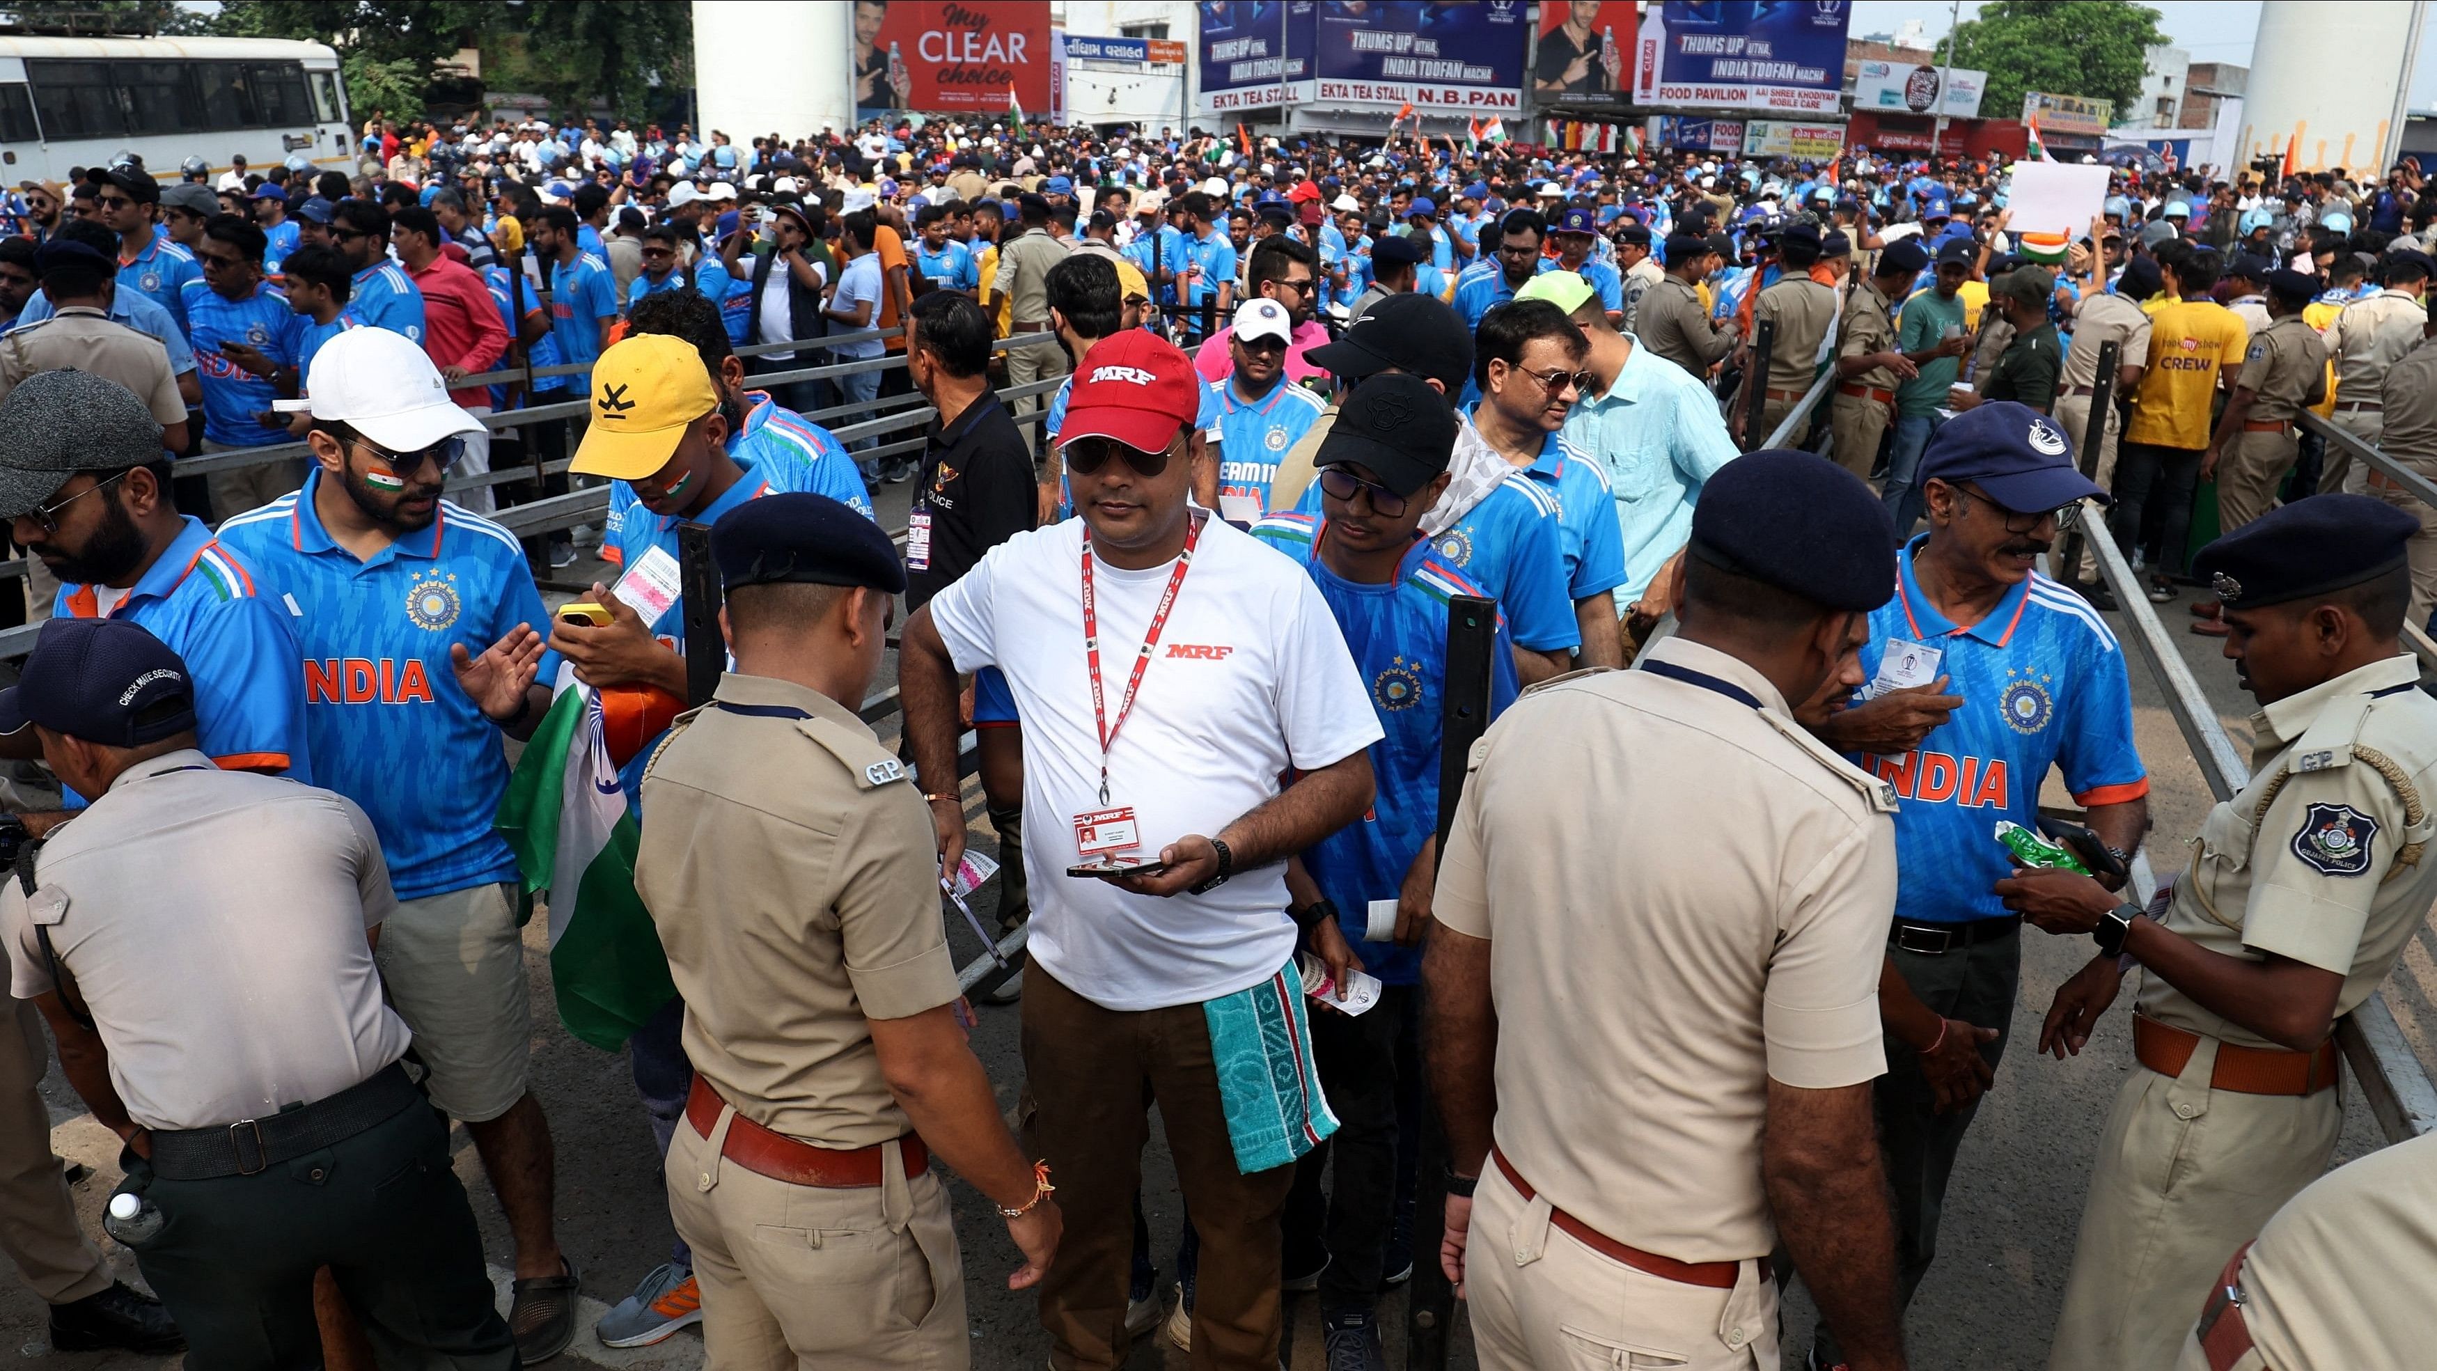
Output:
<svg viewBox="0 0 2437 1371">
<path fill-rule="evenodd" d="M 704 1354 L 967 1366 L 931 1154 L 1006 1215 L 1011 1288 L 1060 1225 L 955 1018 L 931 813 L 855 716 L 904 567 L 870 519 L 804 492 L 738 507 L 712 553 L 736 670 L 651 760 L 634 869 L 695 1064 L 665 1171 Z"/>
</svg>

